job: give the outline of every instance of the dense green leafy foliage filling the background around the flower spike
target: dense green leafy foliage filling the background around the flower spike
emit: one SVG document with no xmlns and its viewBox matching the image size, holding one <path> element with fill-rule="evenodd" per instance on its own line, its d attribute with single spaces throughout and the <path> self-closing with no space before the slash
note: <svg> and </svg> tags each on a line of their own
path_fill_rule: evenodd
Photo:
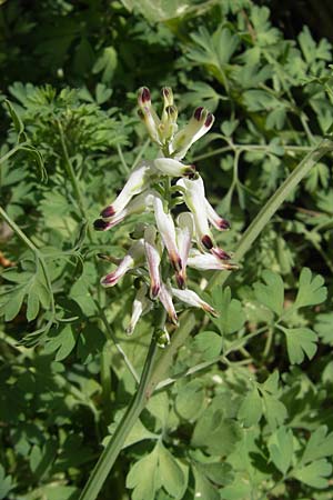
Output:
<svg viewBox="0 0 333 500">
<path fill-rule="evenodd" d="M 2 220 L 1 499 L 78 499 L 135 391 L 151 318 L 125 338 L 132 281 L 101 291 L 97 258 L 135 218 L 92 221 L 157 154 L 137 89 L 214 112 L 190 160 L 232 250 L 331 133 L 332 23 L 329 0 L 0 0 L 0 204 L 29 241 Z M 327 156 L 210 292 L 221 318 L 195 312 L 101 500 L 332 498 L 332 214 Z"/>
</svg>

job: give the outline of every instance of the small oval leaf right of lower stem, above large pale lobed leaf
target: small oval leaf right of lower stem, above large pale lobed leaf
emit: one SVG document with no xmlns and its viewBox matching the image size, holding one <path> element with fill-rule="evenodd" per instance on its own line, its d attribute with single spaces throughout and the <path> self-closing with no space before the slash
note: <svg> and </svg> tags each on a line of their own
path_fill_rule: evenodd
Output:
<svg viewBox="0 0 333 500">
<path fill-rule="evenodd" d="M 175 398 L 175 410 L 185 420 L 195 420 L 204 406 L 204 389 L 200 380 L 181 387 Z"/>
</svg>

